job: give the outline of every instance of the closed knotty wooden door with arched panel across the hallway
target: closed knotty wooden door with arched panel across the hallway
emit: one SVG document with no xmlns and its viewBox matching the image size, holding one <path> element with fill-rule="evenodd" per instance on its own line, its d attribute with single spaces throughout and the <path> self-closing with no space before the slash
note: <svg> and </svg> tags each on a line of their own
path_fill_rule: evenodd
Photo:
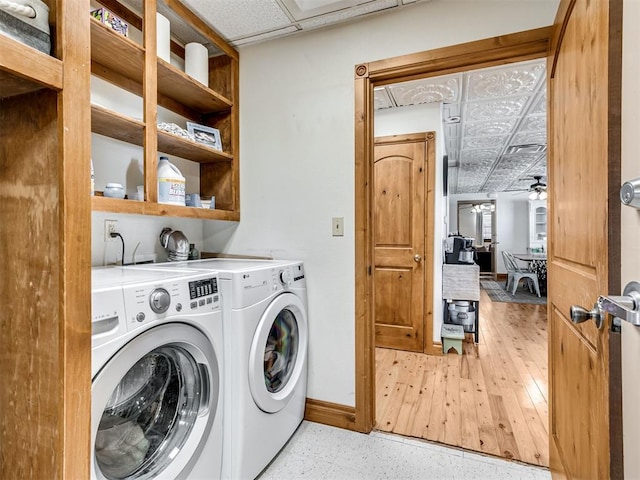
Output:
<svg viewBox="0 0 640 480">
<path fill-rule="evenodd" d="M 373 315 L 378 347 L 424 350 L 425 262 L 431 261 L 425 252 L 426 166 L 433 161 L 432 144 L 433 134 L 375 140 Z"/>
</svg>

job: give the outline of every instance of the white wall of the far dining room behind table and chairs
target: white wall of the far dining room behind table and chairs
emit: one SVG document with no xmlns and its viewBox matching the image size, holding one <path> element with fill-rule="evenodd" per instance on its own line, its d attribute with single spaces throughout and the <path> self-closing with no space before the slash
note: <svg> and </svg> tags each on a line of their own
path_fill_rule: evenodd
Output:
<svg viewBox="0 0 640 480">
<path fill-rule="evenodd" d="M 483 198 L 484 196 L 484 198 Z M 449 196 L 449 232 L 458 231 L 458 200 L 487 201 L 486 195 L 465 193 Z M 507 273 L 502 260 L 503 250 L 512 253 L 526 252 L 529 246 L 529 204 L 526 195 L 501 192 L 496 202 L 497 273 Z"/>
</svg>

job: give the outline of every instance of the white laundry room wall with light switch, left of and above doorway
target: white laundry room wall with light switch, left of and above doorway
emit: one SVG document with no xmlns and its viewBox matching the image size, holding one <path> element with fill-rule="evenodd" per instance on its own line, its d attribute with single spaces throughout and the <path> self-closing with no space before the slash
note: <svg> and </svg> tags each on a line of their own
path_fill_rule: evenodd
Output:
<svg viewBox="0 0 640 480">
<path fill-rule="evenodd" d="M 204 244 L 305 261 L 309 397 L 355 405 L 354 66 L 551 25 L 557 4 L 433 0 L 241 49 L 242 220 Z"/>
</svg>

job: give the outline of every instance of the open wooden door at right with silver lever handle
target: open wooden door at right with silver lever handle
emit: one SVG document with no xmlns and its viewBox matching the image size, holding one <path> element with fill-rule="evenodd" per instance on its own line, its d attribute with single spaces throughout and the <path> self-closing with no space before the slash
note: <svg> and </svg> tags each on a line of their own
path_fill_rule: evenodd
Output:
<svg viewBox="0 0 640 480">
<path fill-rule="evenodd" d="M 550 456 L 556 478 L 615 478 L 608 324 L 571 322 L 619 294 L 619 12 L 617 0 L 562 1 L 549 83 Z M 618 66 L 616 66 L 618 63 Z M 610 338 L 611 336 L 611 338 Z M 610 430 L 613 428 L 613 430 Z"/>
</svg>

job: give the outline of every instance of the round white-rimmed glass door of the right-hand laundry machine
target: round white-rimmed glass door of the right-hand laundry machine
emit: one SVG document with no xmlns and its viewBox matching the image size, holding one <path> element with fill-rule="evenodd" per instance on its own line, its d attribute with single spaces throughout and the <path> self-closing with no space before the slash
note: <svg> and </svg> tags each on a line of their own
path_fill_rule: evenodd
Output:
<svg viewBox="0 0 640 480">
<path fill-rule="evenodd" d="M 296 295 L 284 293 L 265 309 L 249 352 L 249 387 L 261 410 L 275 413 L 284 408 L 306 368 L 306 356 L 304 305 Z"/>
</svg>

